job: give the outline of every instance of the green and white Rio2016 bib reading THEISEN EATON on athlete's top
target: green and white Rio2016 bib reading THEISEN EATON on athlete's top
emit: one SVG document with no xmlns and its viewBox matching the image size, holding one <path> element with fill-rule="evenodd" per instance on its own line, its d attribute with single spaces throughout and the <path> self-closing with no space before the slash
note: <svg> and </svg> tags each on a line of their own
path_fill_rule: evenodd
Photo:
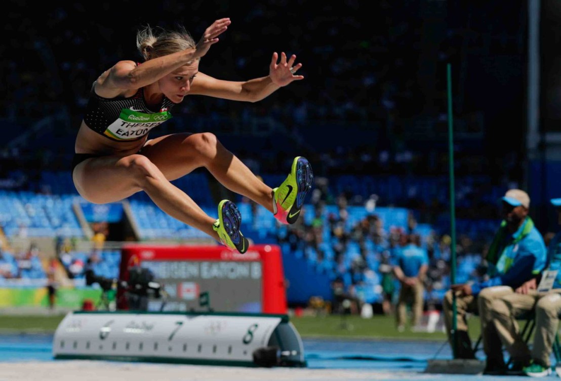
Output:
<svg viewBox="0 0 561 381">
<path fill-rule="evenodd" d="M 172 119 L 172 114 L 168 111 L 146 114 L 132 110 L 132 107 L 122 109 L 119 119 L 110 124 L 104 134 L 116 140 L 139 139 L 169 119 Z"/>
</svg>

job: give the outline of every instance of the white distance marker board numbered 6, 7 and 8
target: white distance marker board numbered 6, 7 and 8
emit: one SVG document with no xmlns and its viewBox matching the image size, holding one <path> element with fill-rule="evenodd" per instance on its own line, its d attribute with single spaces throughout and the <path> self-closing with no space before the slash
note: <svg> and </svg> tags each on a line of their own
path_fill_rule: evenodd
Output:
<svg viewBox="0 0 561 381">
<path fill-rule="evenodd" d="M 247 313 L 71 312 L 53 339 L 55 359 L 305 366 L 300 335 L 286 315 Z M 254 353 L 255 352 L 255 353 Z"/>
</svg>

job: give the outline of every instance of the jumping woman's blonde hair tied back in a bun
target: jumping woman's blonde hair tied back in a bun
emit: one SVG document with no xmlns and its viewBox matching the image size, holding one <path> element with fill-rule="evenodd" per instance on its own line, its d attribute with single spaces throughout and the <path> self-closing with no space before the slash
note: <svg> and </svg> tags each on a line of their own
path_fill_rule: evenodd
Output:
<svg viewBox="0 0 561 381">
<path fill-rule="evenodd" d="M 146 61 L 195 46 L 195 40 L 182 26 L 172 31 L 146 25 L 136 33 L 136 48 Z"/>
</svg>

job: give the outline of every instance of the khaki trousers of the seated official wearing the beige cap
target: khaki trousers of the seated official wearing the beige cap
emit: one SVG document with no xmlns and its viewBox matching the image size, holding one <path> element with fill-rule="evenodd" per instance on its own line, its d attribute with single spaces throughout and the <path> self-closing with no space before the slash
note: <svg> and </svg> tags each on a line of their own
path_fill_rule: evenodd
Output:
<svg viewBox="0 0 561 381">
<path fill-rule="evenodd" d="M 467 332 L 467 321 L 466 314 L 479 313 L 479 318 L 481 321 L 481 337 L 483 342 L 483 348 L 485 353 L 489 351 L 489 335 L 493 337 L 493 332 L 495 331 L 494 324 L 491 323 L 493 316 L 491 315 L 491 304 L 497 298 L 501 298 L 504 295 L 512 294 L 514 291 L 509 286 L 496 286 L 488 287 L 481 290 L 479 295 L 473 297 L 473 295 L 456 297 L 456 324 L 458 331 Z M 453 347 L 452 343 L 452 290 L 449 290 L 444 295 L 444 324 L 446 326 L 446 333 L 448 335 L 448 341 L 450 347 Z M 496 333 L 494 333 L 496 336 Z M 499 340 L 497 340 L 499 341 Z M 471 344 L 471 343 L 470 343 Z"/>
</svg>

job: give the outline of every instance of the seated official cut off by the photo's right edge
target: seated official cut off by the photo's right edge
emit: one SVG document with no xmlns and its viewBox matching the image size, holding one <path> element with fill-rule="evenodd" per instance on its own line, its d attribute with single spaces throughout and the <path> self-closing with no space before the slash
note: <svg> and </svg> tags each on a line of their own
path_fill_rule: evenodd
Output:
<svg viewBox="0 0 561 381">
<path fill-rule="evenodd" d="M 558 214 L 561 225 L 561 199 L 551 200 Z M 510 294 L 495 299 L 491 304 L 491 314 L 496 330 L 489 331 L 488 358 L 494 353 L 501 354 L 501 343 L 511 354 L 512 370 L 523 371 L 533 377 L 551 373 L 551 346 L 558 327 L 561 313 L 561 231 L 555 234 L 548 247 L 548 267 L 546 270 L 558 271 L 552 289 L 537 289 L 537 280 L 532 278 L 525 284 L 512 290 Z M 543 274 L 541 274 L 543 275 Z M 524 342 L 518 329 L 517 319 L 532 318 L 536 311 L 536 332 L 532 351 Z M 500 340 L 499 340 L 500 338 Z M 494 356 L 496 357 L 496 356 Z M 491 357 L 493 358 L 493 357 Z M 499 364 L 500 361 L 499 361 Z"/>
</svg>

